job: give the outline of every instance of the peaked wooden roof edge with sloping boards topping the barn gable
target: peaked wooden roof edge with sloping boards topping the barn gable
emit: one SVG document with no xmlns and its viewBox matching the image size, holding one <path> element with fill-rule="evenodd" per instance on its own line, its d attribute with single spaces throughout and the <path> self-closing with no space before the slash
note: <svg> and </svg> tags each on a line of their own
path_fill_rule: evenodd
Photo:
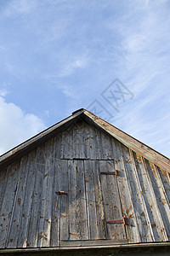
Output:
<svg viewBox="0 0 170 256">
<path fill-rule="evenodd" d="M 144 143 L 139 142 L 139 140 L 129 136 L 126 132 L 121 131 L 114 125 L 111 125 L 104 119 L 99 118 L 94 113 L 91 113 L 84 108 L 78 109 L 68 118 L 63 119 L 56 125 L 49 127 L 47 130 L 40 132 L 35 137 L 31 137 L 31 139 L 3 154 L 0 157 L 0 168 L 5 167 L 20 156 L 30 152 L 33 148 L 37 148 L 42 143 L 47 142 L 59 131 L 65 131 L 65 129 L 71 124 L 76 123 L 79 119 L 86 121 L 89 125 L 94 125 L 99 130 L 111 135 L 111 137 L 115 137 L 123 145 L 127 146 L 127 148 L 132 149 L 137 154 L 140 154 L 145 159 L 156 164 L 156 166 L 159 166 L 170 173 L 170 160 L 166 156 L 158 153 Z"/>
</svg>

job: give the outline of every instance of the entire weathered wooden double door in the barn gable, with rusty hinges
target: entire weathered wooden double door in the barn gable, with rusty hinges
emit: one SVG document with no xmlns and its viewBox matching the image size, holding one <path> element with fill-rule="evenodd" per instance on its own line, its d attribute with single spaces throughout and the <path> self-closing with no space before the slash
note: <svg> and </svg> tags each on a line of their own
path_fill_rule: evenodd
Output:
<svg viewBox="0 0 170 256">
<path fill-rule="evenodd" d="M 60 160 L 60 241 L 126 240 L 112 160 Z"/>
</svg>

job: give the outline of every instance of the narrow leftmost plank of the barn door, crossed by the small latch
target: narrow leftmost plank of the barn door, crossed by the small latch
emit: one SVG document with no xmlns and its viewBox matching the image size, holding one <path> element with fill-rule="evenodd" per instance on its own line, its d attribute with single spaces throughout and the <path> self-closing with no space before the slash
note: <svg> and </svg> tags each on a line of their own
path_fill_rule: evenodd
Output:
<svg viewBox="0 0 170 256">
<path fill-rule="evenodd" d="M 69 193 L 68 187 L 68 161 L 63 160 L 60 170 L 60 190 Z M 60 240 L 69 240 L 69 196 L 60 197 Z"/>
</svg>

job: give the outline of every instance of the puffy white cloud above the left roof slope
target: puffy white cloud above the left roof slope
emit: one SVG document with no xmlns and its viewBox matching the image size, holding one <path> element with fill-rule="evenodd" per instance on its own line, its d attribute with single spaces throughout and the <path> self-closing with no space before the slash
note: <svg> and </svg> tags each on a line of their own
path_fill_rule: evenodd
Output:
<svg viewBox="0 0 170 256">
<path fill-rule="evenodd" d="M 24 113 L 14 103 L 5 102 L 2 96 L 0 96 L 0 123 L 0 154 L 46 128 L 42 119 L 32 113 Z"/>
</svg>

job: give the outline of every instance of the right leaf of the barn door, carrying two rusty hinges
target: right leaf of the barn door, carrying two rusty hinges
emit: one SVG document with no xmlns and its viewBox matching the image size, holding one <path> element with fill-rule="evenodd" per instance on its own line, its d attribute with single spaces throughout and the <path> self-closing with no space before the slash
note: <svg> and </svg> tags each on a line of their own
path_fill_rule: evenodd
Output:
<svg viewBox="0 0 170 256">
<path fill-rule="evenodd" d="M 84 168 L 90 239 L 125 240 L 113 160 L 85 160 Z"/>
</svg>

